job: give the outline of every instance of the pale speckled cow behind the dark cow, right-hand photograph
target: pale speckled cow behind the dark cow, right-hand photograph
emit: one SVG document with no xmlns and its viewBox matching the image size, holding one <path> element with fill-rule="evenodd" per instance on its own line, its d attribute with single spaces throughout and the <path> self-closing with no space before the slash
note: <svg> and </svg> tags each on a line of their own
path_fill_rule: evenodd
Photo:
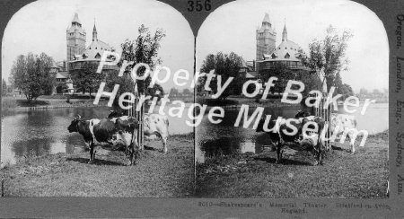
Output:
<svg viewBox="0 0 404 219">
<path fill-rule="evenodd" d="M 310 116 L 307 112 L 298 110 L 297 114 L 294 118 L 307 118 L 311 120 L 315 118 L 314 116 Z M 344 134 L 345 130 L 352 130 L 356 129 L 356 117 L 353 115 L 346 115 L 346 114 L 338 114 L 338 113 L 330 113 L 329 115 L 329 128 L 331 131 L 332 136 L 338 136 L 338 139 Z M 338 127 L 338 129 L 337 129 Z M 356 131 L 354 131 L 356 132 Z M 351 153 L 355 153 L 355 144 L 352 139 L 355 139 L 355 133 L 353 131 L 348 131 L 347 136 L 351 140 L 349 141 L 349 145 L 351 145 Z"/>
</svg>

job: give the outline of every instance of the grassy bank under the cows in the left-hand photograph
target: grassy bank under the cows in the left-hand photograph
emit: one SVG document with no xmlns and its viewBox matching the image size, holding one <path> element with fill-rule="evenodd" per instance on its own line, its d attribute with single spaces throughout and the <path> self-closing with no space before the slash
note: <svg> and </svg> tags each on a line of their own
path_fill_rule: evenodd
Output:
<svg viewBox="0 0 404 219">
<path fill-rule="evenodd" d="M 194 135 L 170 136 L 168 153 L 159 140 L 135 166 L 121 152 L 57 153 L 27 158 L 0 171 L 5 197 L 189 197 L 194 189 Z M 152 149 L 152 150 L 151 150 Z M 153 150 L 154 149 L 154 150 Z"/>
</svg>

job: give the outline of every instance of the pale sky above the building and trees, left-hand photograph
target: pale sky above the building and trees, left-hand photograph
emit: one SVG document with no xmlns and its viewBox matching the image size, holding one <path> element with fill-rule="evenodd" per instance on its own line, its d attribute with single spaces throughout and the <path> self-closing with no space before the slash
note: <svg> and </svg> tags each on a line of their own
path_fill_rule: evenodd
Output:
<svg viewBox="0 0 404 219">
<path fill-rule="evenodd" d="M 5 28 L 2 77 L 8 79 L 13 61 L 21 54 L 45 52 L 55 61 L 66 59 L 66 29 L 75 13 L 87 32 L 86 46 L 92 40 L 94 19 L 98 39 L 117 51 L 125 39 L 136 39 L 142 23 L 151 31 L 164 30 L 166 37 L 159 51 L 162 66 L 168 66 L 171 75 L 180 69 L 193 74 L 194 36 L 189 22 L 169 4 L 154 0 L 40 0 L 22 7 Z M 166 92 L 172 86 L 172 80 L 162 83 Z"/>
</svg>

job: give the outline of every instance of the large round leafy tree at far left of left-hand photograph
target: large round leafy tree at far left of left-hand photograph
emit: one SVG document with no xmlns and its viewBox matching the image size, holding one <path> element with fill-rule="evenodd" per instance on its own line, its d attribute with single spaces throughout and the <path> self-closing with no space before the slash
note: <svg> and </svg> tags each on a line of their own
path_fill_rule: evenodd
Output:
<svg viewBox="0 0 404 219">
<path fill-rule="evenodd" d="M 22 91 L 28 101 L 36 100 L 56 83 L 56 74 L 49 72 L 52 64 L 52 57 L 45 53 L 40 56 L 32 53 L 20 55 L 13 63 L 9 81 Z"/>
</svg>

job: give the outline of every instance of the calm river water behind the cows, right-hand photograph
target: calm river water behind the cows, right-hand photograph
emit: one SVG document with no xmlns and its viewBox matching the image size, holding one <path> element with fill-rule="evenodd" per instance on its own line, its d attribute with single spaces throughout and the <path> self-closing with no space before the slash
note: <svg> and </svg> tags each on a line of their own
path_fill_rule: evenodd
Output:
<svg viewBox="0 0 404 219">
<path fill-rule="evenodd" d="M 362 107 L 362 106 L 361 106 Z M 277 117 L 294 118 L 299 106 L 295 107 L 274 107 L 264 109 L 264 114 Z M 249 117 L 255 109 L 249 110 Z M 357 129 L 367 130 L 370 135 L 380 133 L 389 128 L 389 107 L 388 103 L 371 104 L 364 115 L 358 109 L 353 115 L 356 116 Z M 262 145 L 271 145 L 268 135 L 257 133 L 252 129 L 253 122 L 248 128 L 244 128 L 243 119 L 239 127 L 234 127 L 240 109 L 225 109 L 223 121 L 219 124 L 212 124 L 204 116 L 201 125 L 196 128 L 196 161 L 205 162 L 206 157 L 232 153 L 261 153 Z M 338 113 L 347 114 L 342 106 Z"/>
</svg>

